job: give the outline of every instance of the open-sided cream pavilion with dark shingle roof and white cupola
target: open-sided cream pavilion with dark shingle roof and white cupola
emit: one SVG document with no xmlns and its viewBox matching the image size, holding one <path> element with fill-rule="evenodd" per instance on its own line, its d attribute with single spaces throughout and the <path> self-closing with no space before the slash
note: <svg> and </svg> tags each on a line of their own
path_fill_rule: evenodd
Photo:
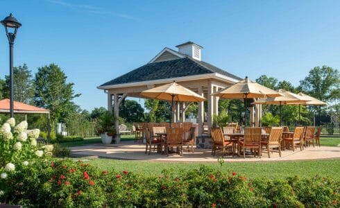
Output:
<svg viewBox="0 0 340 208">
<path fill-rule="evenodd" d="M 212 115 L 218 114 L 219 97 L 211 94 L 239 82 L 241 78 L 202 61 L 203 47 L 194 42 L 185 42 L 176 47 L 178 51 L 164 48 L 142 67 L 97 87 L 108 94 L 108 110 L 113 110 L 115 118 L 119 116 L 119 105 L 126 96 L 140 98 L 143 90 L 176 81 L 207 98 L 207 125 L 212 125 Z M 185 103 L 176 104 L 174 121 L 185 119 L 184 113 L 180 116 L 180 112 L 185 112 Z M 198 135 L 203 133 L 204 113 L 203 102 L 198 103 Z M 117 119 L 115 122 L 118 127 Z"/>
</svg>

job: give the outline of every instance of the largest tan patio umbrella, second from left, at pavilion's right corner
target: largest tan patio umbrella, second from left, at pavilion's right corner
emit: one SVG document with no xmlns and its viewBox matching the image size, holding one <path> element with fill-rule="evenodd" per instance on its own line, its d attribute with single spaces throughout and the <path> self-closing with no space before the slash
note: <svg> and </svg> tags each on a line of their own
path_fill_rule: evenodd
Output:
<svg viewBox="0 0 340 208">
<path fill-rule="evenodd" d="M 239 81 L 235 85 L 221 89 L 218 92 L 212 94 L 213 96 L 219 96 L 220 98 L 239 99 L 244 98 L 244 110 L 245 110 L 245 125 L 247 123 L 246 109 L 247 98 L 266 98 L 266 97 L 278 97 L 281 96 L 278 92 L 268 87 L 264 87 L 259 83 L 249 80 L 248 77 Z"/>
</svg>

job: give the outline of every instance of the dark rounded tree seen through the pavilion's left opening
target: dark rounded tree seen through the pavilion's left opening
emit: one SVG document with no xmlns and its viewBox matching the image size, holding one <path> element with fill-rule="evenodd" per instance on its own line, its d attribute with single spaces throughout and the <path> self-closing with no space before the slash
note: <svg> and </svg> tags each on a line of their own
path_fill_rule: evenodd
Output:
<svg viewBox="0 0 340 208">
<path fill-rule="evenodd" d="M 125 100 L 119 106 L 119 116 L 128 123 L 144 121 L 144 108 L 137 101 Z"/>
</svg>

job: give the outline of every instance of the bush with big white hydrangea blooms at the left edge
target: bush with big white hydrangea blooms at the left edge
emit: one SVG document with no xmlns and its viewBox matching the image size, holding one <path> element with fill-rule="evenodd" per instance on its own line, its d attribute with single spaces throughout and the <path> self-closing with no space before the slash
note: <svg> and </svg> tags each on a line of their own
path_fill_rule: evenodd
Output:
<svg viewBox="0 0 340 208">
<path fill-rule="evenodd" d="M 53 145 L 37 145 L 39 129 L 27 130 L 26 121 L 15 124 L 15 119 L 10 118 L 0 127 L 0 193 L 3 196 L 11 175 L 30 168 L 37 160 L 51 157 L 53 150 Z"/>
</svg>

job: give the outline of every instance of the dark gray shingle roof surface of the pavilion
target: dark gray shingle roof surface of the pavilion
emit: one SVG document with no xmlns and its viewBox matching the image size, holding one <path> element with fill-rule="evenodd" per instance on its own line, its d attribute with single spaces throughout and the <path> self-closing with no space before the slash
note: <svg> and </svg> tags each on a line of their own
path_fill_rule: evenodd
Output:
<svg viewBox="0 0 340 208">
<path fill-rule="evenodd" d="M 178 53 L 178 52 L 177 52 Z M 101 86 L 119 85 L 125 83 L 137 83 L 148 80 L 159 80 L 167 78 L 178 78 L 184 76 L 194 76 L 205 73 L 220 73 L 230 78 L 241 80 L 241 78 L 223 71 L 212 64 L 194 60 L 192 58 L 179 58 L 164 62 L 148 63 L 122 76 L 114 78 Z"/>
</svg>

